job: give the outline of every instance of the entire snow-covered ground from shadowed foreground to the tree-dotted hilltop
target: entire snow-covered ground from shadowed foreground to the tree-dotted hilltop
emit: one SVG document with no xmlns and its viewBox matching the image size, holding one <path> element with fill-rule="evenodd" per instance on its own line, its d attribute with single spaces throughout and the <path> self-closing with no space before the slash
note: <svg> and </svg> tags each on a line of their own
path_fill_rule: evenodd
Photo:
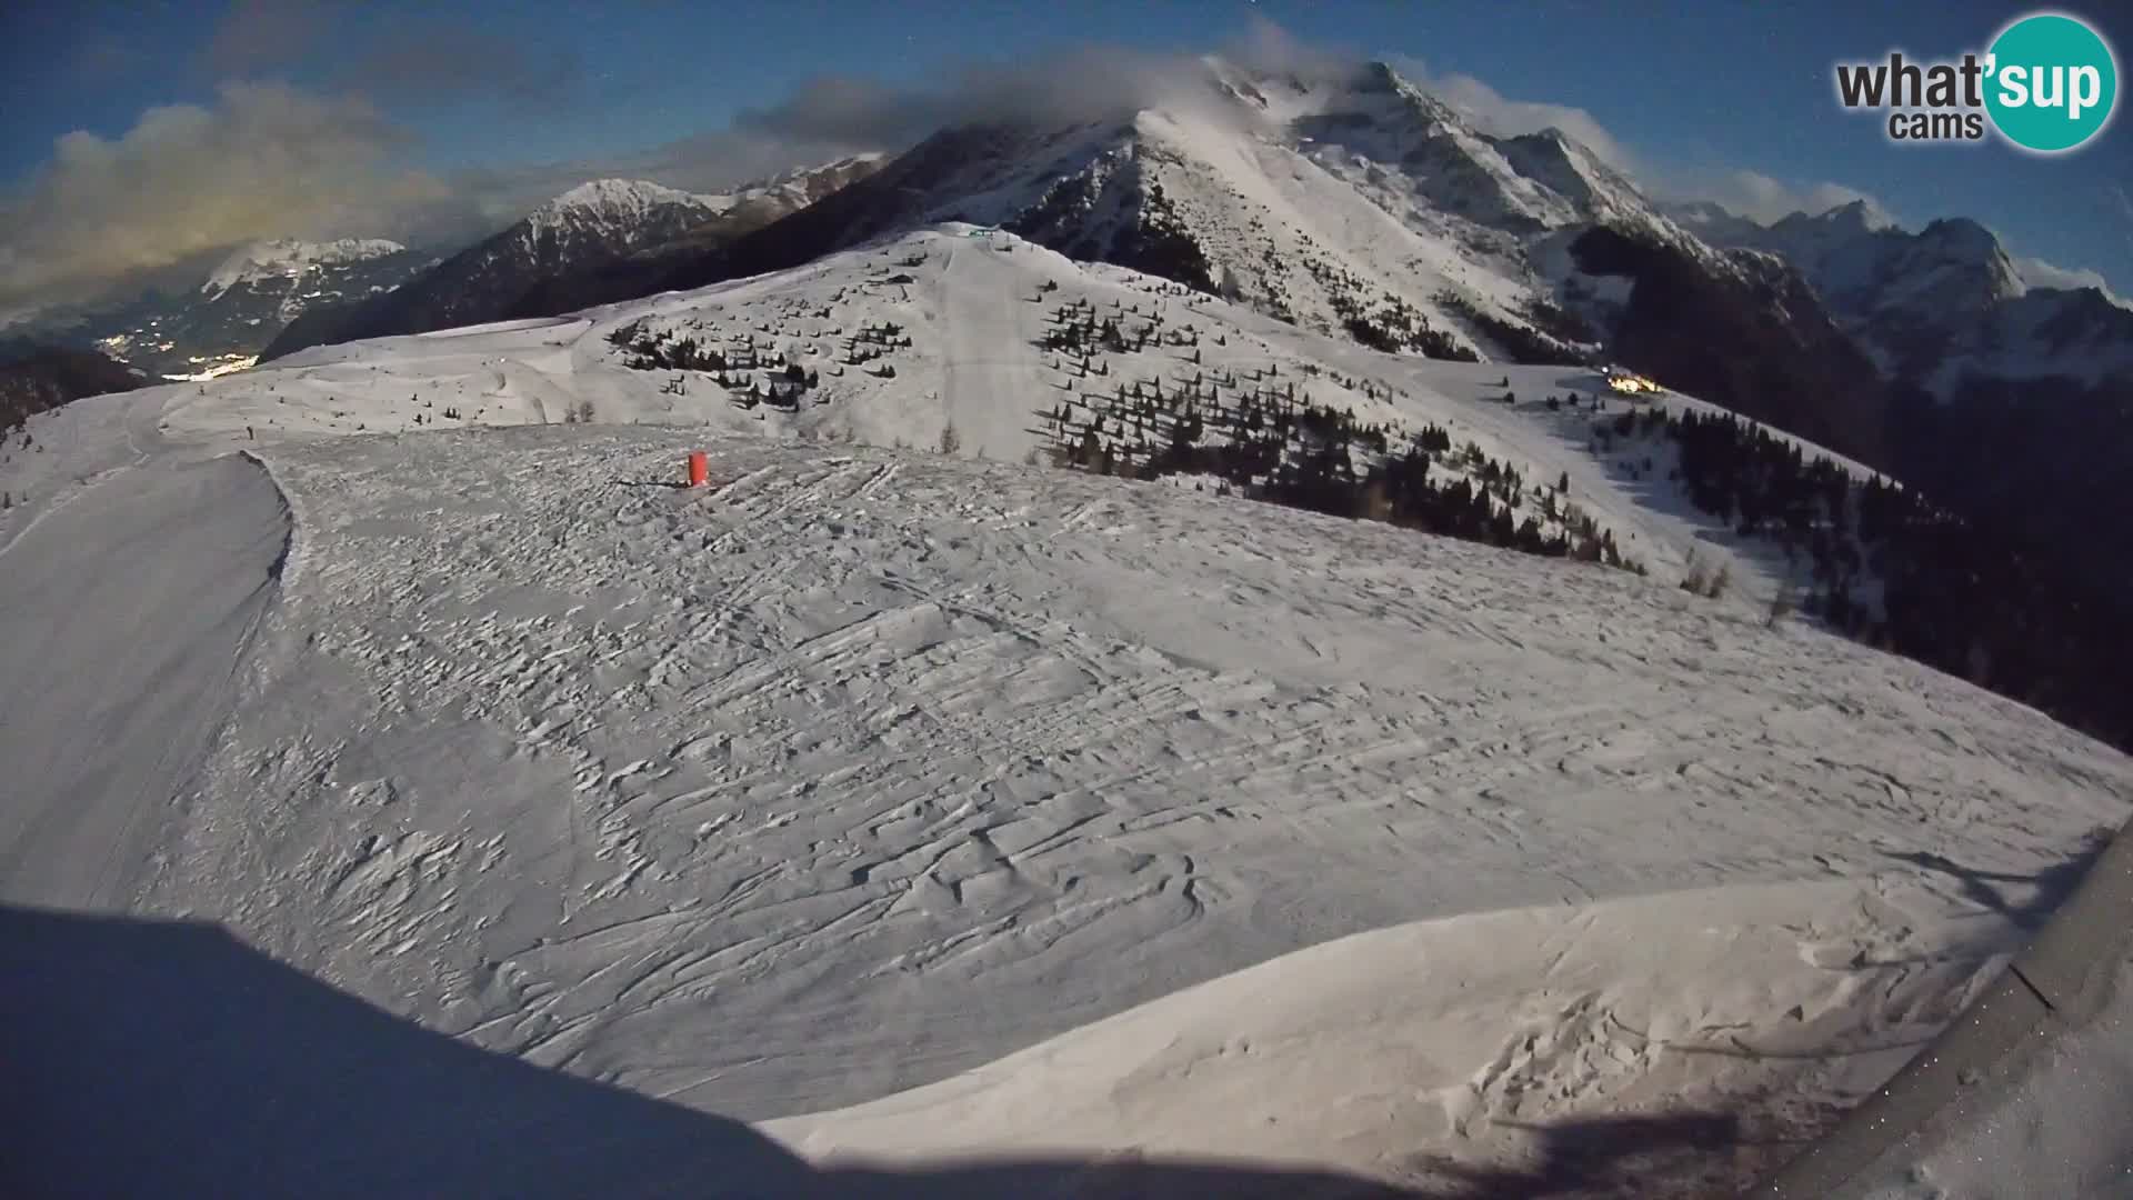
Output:
<svg viewBox="0 0 2133 1200">
<path fill-rule="evenodd" d="M 0 726 L 0 1174 L 1726 1194 L 1937 1033 L 2127 818 L 2124 756 L 1677 589 L 1659 568 L 1715 540 L 1694 515 L 1610 483 L 1568 414 L 1482 397 L 1563 372 L 1177 301 L 1235 354 L 1570 470 L 1651 579 L 793 440 L 951 416 L 1017 459 L 1049 378 L 1022 293 L 1152 299 L 947 241 L 894 248 L 930 256 L 911 284 L 862 286 L 866 252 L 38 419 L 0 463 L 0 621 L 38 647 L 4 683 L 34 737 Z M 604 340 L 836 290 L 823 325 L 915 344 L 796 416 L 661 393 Z M 580 397 L 668 425 L 552 425 Z M 540 427 L 429 431 L 444 406 Z M 213 457 L 245 425 L 267 476 Z M 712 489 L 674 487 L 691 448 Z M 98 574 L 130 527 L 134 596 Z M 222 651 L 158 670 L 173 643 Z M 119 692 L 166 685 L 190 745 L 132 737 Z"/>
</svg>

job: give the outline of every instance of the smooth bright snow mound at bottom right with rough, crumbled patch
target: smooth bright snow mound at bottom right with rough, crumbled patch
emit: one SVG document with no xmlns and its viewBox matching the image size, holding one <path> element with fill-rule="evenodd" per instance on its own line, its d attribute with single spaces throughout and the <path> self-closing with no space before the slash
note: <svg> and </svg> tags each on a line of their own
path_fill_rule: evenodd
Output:
<svg viewBox="0 0 2133 1200">
<path fill-rule="evenodd" d="M 1849 882 L 1425 920 L 761 1130 L 817 1162 L 1133 1147 L 1325 1166 L 1337 1147 L 1335 1166 L 1429 1196 L 1734 1194 L 1947 1023 L 2016 937 Z"/>
</svg>

